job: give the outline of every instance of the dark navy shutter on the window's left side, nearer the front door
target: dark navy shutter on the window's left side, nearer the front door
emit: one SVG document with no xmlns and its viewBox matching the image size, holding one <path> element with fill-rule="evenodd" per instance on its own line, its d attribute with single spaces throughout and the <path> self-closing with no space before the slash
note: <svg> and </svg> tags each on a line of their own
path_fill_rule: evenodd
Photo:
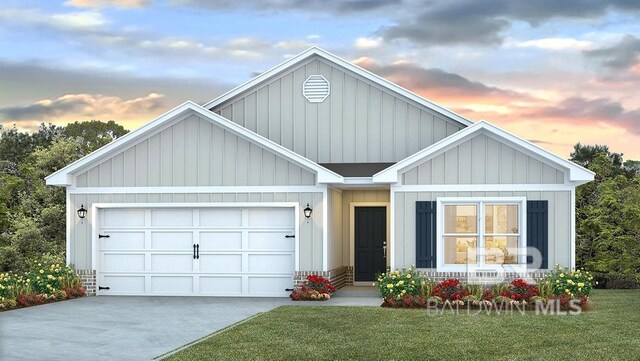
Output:
<svg viewBox="0 0 640 361">
<path fill-rule="evenodd" d="M 436 268 L 436 202 L 416 202 L 416 267 Z"/>
</svg>

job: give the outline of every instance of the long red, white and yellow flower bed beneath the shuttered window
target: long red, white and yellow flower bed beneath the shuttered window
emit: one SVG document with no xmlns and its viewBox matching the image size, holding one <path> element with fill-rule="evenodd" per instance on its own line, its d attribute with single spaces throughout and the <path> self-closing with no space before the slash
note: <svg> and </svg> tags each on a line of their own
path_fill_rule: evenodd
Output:
<svg viewBox="0 0 640 361">
<path fill-rule="evenodd" d="M 407 284 L 407 280 L 409 280 Z M 537 284 L 515 279 L 492 286 L 465 285 L 451 278 L 440 283 L 424 279 L 413 267 L 378 276 L 382 307 L 582 310 L 590 308 L 593 277 L 589 272 L 556 268 Z M 557 307 L 556 307 L 557 306 Z"/>
</svg>

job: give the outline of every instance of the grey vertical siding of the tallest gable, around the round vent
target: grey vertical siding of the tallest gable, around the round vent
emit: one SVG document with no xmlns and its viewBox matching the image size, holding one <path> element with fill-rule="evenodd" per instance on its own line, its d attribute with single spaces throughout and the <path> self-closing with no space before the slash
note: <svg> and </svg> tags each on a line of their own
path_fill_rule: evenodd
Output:
<svg viewBox="0 0 640 361">
<path fill-rule="evenodd" d="M 315 74 L 331 84 L 321 103 L 302 94 Z M 463 127 L 318 57 L 212 110 L 319 163 L 396 162 Z"/>
</svg>

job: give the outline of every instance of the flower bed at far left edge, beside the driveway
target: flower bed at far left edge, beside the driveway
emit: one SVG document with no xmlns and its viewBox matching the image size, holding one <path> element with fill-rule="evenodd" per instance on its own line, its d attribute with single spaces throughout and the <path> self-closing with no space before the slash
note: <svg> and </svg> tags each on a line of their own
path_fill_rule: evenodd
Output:
<svg viewBox="0 0 640 361">
<path fill-rule="evenodd" d="M 0 312 L 85 296 L 72 268 L 34 261 L 24 274 L 0 274 Z"/>
</svg>

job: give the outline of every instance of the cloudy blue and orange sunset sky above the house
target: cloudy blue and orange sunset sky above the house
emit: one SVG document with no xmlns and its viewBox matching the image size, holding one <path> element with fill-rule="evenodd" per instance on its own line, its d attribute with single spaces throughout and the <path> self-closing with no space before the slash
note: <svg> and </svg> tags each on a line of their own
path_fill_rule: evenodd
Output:
<svg viewBox="0 0 640 361">
<path fill-rule="evenodd" d="M 568 157 L 640 159 L 637 0 L 3 0 L 0 124 L 203 104 L 316 45 Z"/>
</svg>

